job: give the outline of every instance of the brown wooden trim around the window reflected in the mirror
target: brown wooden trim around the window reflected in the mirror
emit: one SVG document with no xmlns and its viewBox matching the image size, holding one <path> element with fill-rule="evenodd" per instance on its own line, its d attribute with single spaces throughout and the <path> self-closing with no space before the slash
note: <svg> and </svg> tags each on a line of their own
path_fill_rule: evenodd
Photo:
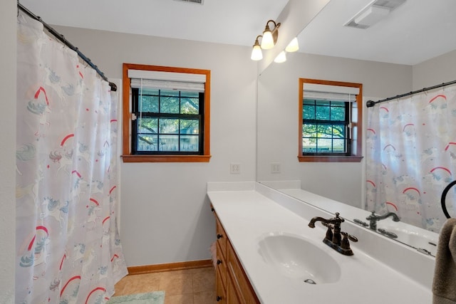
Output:
<svg viewBox="0 0 456 304">
<path fill-rule="evenodd" d="M 304 84 L 315 83 L 319 85 L 339 85 L 344 87 L 359 88 L 359 94 L 356 95 L 356 104 L 358 109 L 358 116 L 356 122 L 353 122 L 352 127 L 356 127 L 356 153 L 352 152 L 348 156 L 340 155 L 303 155 L 302 154 L 302 100 L 304 97 Z M 299 162 L 361 162 L 362 155 L 362 136 L 363 136 L 363 84 L 362 83 L 344 83 L 341 81 L 331 80 L 317 80 L 309 78 L 299 78 L 299 140 L 298 140 L 298 160 Z M 352 149 L 353 151 L 353 149 Z"/>
</svg>

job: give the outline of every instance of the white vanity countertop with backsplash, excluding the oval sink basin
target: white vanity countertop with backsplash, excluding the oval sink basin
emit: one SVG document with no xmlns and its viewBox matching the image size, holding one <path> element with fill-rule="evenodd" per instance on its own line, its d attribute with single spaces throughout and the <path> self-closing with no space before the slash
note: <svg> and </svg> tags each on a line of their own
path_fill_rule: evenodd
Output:
<svg viewBox="0 0 456 304">
<path fill-rule="evenodd" d="M 357 246 L 363 242 L 371 242 L 373 238 L 382 238 L 381 236 L 375 236 L 367 231 L 368 229 L 363 231 L 354 224 L 344 222 L 342 231 L 357 236 L 359 241 L 351 242 L 353 256 L 343 256 L 322 242 L 326 230 L 321 225 L 316 225 L 315 229 L 308 226 L 312 217 L 323 215 L 328 219 L 332 217 L 331 214 L 322 214 L 321 210 L 312 206 L 304 207 L 309 214 L 296 214 L 277 202 L 281 194 L 274 193 L 273 200 L 255 190 L 255 187 L 258 189 L 258 184 L 250 186 L 252 184 L 248 187 L 244 184 L 239 188 L 242 190 L 237 191 L 233 184 L 229 184 L 229 188 L 222 187 L 222 184 L 215 187 L 208 184 L 207 195 L 261 303 L 432 303 L 429 286 L 410 278 L 410 273 L 402 273 L 392 268 L 396 264 L 382 263 L 372 254 L 366 253 L 366 250 L 362 249 L 366 247 L 366 243 Z M 361 235 L 356 235 L 356 232 Z M 259 253 L 259 241 L 271 233 L 296 234 L 314 241 L 316 246 L 338 262 L 341 267 L 339 281 L 311 285 L 281 276 Z M 385 243 L 383 239 L 379 243 Z M 400 246 L 399 243 L 388 240 L 386 242 L 388 246 Z M 415 253 L 410 251 L 410 254 Z M 404 269 L 417 266 L 413 263 L 407 266 L 406 256 L 395 258 L 400 260 Z M 430 268 L 425 267 L 422 275 L 429 276 L 429 272 Z M 412 273 L 419 275 L 420 271 L 414 269 Z"/>
</svg>

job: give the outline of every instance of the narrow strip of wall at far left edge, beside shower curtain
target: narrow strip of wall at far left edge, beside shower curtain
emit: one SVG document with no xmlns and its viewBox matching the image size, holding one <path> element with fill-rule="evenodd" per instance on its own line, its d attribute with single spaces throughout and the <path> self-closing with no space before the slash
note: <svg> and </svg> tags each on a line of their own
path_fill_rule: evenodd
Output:
<svg viewBox="0 0 456 304">
<path fill-rule="evenodd" d="M 16 1 L 0 4 L 0 303 L 14 303 L 16 251 Z"/>
</svg>

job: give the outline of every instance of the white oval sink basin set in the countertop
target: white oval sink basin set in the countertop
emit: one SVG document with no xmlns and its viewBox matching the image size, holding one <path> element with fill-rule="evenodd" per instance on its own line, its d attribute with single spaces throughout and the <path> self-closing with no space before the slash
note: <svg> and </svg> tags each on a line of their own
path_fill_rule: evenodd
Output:
<svg viewBox="0 0 456 304">
<path fill-rule="evenodd" d="M 259 241 L 259 253 L 266 263 L 288 278 L 316 284 L 336 283 L 341 278 L 341 267 L 336 260 L 302 236 L 268 234 Z"/>
</svg>

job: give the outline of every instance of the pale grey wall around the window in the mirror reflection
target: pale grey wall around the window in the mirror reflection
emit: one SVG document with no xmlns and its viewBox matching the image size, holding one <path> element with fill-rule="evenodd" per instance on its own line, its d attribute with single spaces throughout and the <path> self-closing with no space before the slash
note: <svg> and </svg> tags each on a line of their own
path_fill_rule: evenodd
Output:
<svg viewBox="0 0 456 304">
<path fill-rule="evenodd" d="M 362 206 L 364 162 L 298 162 L 299 78 L 363 83 L 364 96 L 382 98 L 411 90 L 412 67 L 294 53 L 259 78 L 258 179 L 299 179 L 303 189 Z M 281 173 L 271 173 L 271 162 L 281 164 Z"/>
</svg>

